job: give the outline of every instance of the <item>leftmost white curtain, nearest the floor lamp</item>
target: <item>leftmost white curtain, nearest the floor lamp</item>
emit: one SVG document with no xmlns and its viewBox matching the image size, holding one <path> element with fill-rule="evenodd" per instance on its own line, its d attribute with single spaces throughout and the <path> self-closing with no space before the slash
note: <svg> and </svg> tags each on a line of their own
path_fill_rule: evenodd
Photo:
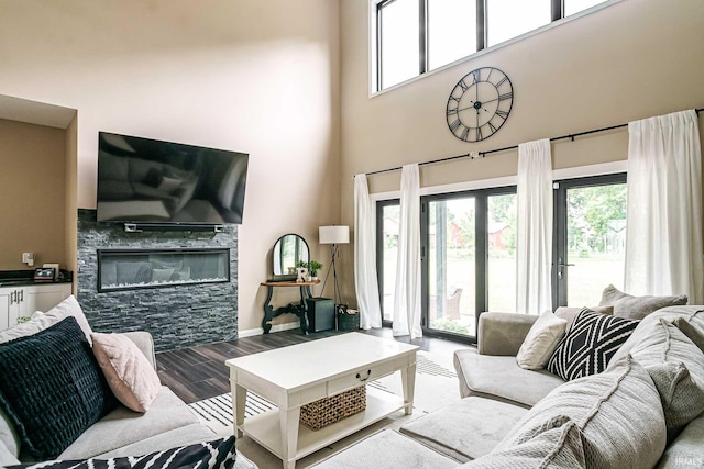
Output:
<svg viewBox="0 0 704 469">
<path fill-rule="evenodd" d="M 376 237 L 374 203 L 366 175 L 354 177 L 354 288 L 363 330 L 382 326 L 382 308 L 376 281 Z"/>
</svg>

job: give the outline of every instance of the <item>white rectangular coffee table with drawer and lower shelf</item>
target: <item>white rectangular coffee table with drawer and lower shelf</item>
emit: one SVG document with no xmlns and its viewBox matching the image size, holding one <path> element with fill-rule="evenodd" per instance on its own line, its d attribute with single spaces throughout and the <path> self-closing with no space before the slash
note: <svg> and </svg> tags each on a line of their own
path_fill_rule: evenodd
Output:
<svg viewBox="0 0 704 469">
<path fill-rule="evenodd" d="M 405 410 L 413 413 L 418 346 L 361 333 L 233 358 L 230 367 L 234 432 L 246 434 L 294 469 L 296 460 Z M 367 387 L 366 410 L 318 431 L 299 426 L 300 406 L 400 370 L 404 395 Z M 248 390 L 278 410 L 248 417 Z"/>
</svg>

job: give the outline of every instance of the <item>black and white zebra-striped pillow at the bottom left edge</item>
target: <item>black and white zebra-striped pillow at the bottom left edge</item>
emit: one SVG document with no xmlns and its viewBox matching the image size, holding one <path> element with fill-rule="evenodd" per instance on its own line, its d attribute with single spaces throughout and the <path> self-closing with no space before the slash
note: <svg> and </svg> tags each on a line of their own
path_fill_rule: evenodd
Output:
<svg viewBox="0 0 704 469">
<path fill-rule="evenodd" d="M 166 449 L 145 456 L 73 461 L 44 461 L 9 466 L 8 469 L 232 469 L 237 453 L 234 436 Z"/>
</svg>

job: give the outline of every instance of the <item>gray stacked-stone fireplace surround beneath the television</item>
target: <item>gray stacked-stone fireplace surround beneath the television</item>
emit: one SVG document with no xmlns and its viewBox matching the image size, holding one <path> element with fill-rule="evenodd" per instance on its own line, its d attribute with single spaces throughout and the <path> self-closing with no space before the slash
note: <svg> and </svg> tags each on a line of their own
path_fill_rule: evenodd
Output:
<svg viewBox="0 0 704 469">
<path fill-rule="evenodd" d="M 229 281 L 99 292 L 98 250 L 110 249 L 186 253 L 229 249 Z M 234 224 L 226 224 L 218 233 L 125 233 L 123 224 L 98 223 L 95 210 L 80 209 L 78 302 L 96 332 L 147 331 L 154 337 L 156 351 L 232 340 L 238 337 L 237 249 L 238 225 Z"/>
</svg>

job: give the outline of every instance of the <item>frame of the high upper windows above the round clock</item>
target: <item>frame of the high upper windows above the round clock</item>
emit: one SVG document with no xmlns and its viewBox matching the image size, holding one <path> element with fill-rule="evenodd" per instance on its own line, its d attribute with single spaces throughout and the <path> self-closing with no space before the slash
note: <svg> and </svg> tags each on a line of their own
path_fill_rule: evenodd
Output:
<svg viewBox="0 0 704 469">
<path fill-rule="evenodd" d="M 525 36 L 536 34 L 540 31 L 543 31 L 547 27 L 552 27 L 553 25 L 564 23 L 565 21 L 572 21 L 578 18 L 581 18 L 585 14 L 592 13 L 594 11 L 601 10 L 606 7 L 610 7 L 612 4 L 618 3 L 623 0 L 605 0 L 601 3 L 586 8 L 578 13 L 570 14 L 568 16 L 564 15 L 564 1 L 565 0 L 549 0 L 550 1 L 550 10 L 551 10 L 551 21 L 548 24 L 544 24 L 541 27 L 536 30 L 531 30 L 529 32 L 519 34 L 510 40 L 506 40 L 499 44 L 492 45 L 490 47 L 486 46 L 487 43 L 487 21 L 486 21 L 486 0 L 476 0 L 476 51 L 470 53 L 469 55 L 461 57 L 452 63 L 444 64 L 438 66 L 430 70 L 429 68 L 429 57 L 428 57 L 428 2 L 429 0 L 418 0 L 418 9 L 419 9 L 419 37 L 418 37 L 418 47 L 419 47 L 419 64 L 418 64 L 418 75 L 408 78 L 405 81 L 399 83 L 394 83 L 388 87 L 383 87 L 383 75 L 384 70 L 382 67 L 382 29 L 383 29 L 383 9 L 388 4 L 395 2 L 396 0 L 370 0 L 370 18 L 374 20 L 371 21 L 371 34 L 370 34 L 370 49 L 371 49 L 371 83 L 370 90 L 371 96 L 381 93 L 388 89 L 393 89 L 397 86 L 417 79 L 419 77 L 427 76 L 428 74 L 441 70 L 448 67 L 450 64 L 455 64 L 458 62 L 464 62 L 470 57 L 475 56 L 476 54 L 483 53 L 485 51 L 491 51 L 497 47 L 502 47 L 505 44 L 509 44 L 514 41 L 520 40 Z M 372 46 L 373 44 L 373 46 Z"/>
</svg>

